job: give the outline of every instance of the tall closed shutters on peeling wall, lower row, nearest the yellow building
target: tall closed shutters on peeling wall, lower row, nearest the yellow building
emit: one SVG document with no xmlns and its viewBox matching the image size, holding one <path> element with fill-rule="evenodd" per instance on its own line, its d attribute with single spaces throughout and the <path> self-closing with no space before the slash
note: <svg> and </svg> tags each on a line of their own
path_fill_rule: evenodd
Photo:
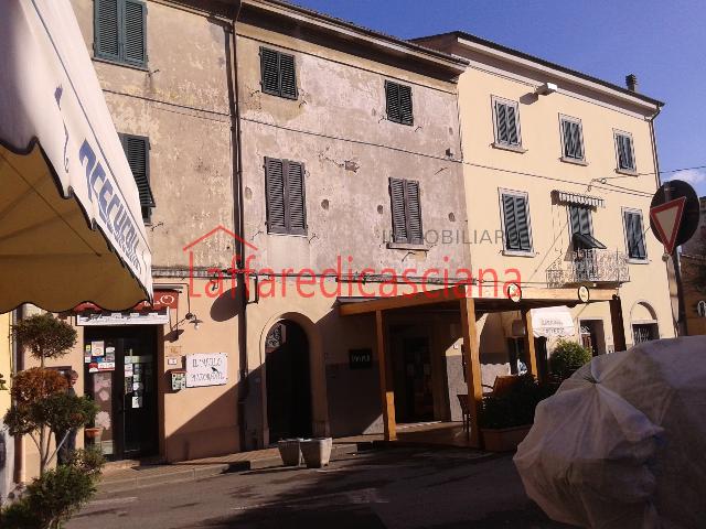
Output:
<svg viewBox="0 0 706 529">
<path fill-rule="evenodd" d="M 393 242 L 424 245 L 419 182 L 389 179 Z"/>
</svg>

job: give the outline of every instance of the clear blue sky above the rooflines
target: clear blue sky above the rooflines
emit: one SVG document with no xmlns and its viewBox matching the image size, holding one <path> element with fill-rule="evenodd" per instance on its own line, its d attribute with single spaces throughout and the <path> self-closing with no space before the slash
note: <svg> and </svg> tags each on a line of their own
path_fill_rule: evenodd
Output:
<svg viewBox="0 0 706 529">
<path fill-rule="evenodd" d="M 402 39 L 461 30 L 639 90 L 666 106 L 656 119 L 663 180 L 706 195 L 704 0 L 293 0 Z"/>
</svg>

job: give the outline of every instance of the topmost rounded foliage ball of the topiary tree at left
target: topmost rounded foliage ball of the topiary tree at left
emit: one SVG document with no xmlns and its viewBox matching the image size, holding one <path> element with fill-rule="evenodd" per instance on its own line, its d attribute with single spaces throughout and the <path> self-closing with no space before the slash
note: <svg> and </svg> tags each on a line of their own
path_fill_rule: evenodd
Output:
<svg viewBox="0 0 706 529">
<path fill-rule="evenodd" d="M 76 330 L 50 313 L 21 320 L 12 325 L 12 333 L 42 367 L 46 358 L 64 356 L 76 344 Z"/>
</svg>

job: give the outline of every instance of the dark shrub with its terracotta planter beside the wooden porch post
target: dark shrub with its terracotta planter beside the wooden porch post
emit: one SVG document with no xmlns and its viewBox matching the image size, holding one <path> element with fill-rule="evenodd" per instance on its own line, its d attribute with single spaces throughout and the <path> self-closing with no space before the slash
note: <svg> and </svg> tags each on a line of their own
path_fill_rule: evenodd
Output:
<svg viewBox="0 0 706 529">
<path fill-rule="evenodd" d="M 527 374 L 505 395 L 485 397 L 480 418 L 485 450 L 515 450 L 532 428 L 535 408 L 553 392 L 553 387 L 537 382 Z"/>
</svg>

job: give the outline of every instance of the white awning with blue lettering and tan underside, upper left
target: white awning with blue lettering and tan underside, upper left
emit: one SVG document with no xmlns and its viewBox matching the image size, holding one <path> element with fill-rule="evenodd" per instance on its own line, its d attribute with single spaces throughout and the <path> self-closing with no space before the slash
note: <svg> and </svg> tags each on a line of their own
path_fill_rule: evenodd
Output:
<svg viewBox="0 0 706 529">
<path fill-rule="evenodd" d="M 0 1 L 0 312 L 151 298 L 137 185 L 68 0 Z"/>
</svg>

